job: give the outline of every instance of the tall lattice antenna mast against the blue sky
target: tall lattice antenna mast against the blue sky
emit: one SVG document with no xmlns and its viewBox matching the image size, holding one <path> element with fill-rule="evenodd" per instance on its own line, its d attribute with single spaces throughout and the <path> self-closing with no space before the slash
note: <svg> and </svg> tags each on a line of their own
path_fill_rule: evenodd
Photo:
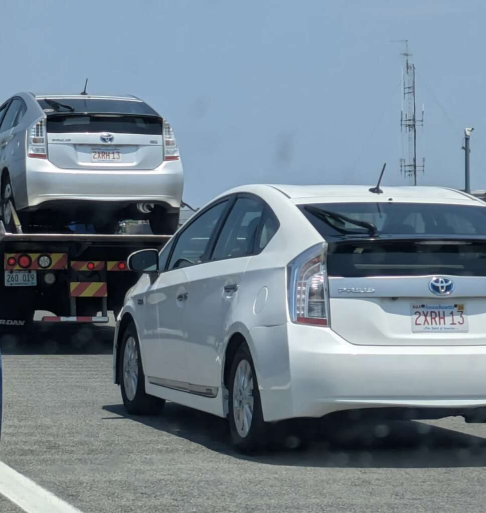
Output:
<svg viewBox="0 0 486 513">
<path fill-rule="evenodd" d="M 423 127 L 424 109 L 422 105 L 422 117 L 418 120 L 415 105 L 415 64 L 410 63 L 409 57 L 412 53 L 408 51 L 408 40 L 401 40 L 400 43 L 405 43 L 405 51 L 401 53 L 405 58 L 405 69 L 402 71 L 400 127 L 408 143 L 408 155 L 400 159 L 400 172 L 412 178 L 414 185 L 417 185 L 417 171 L 425 172 L 425 159 L 422 159 L 421 165 L 417 164 L 417 126 Z"/>
</svg>

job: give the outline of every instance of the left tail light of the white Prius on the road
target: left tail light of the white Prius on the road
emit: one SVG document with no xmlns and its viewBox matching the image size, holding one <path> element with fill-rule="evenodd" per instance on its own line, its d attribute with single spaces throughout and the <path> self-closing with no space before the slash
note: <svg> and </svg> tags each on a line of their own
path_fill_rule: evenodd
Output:
<svg viewBox="0 0 486 513">
<path fill-rule="evenodd" d="M 287 266 L 290 319 L 298 324 L 329 326 L 327 244 L 304 251 Z"/>
</svg>

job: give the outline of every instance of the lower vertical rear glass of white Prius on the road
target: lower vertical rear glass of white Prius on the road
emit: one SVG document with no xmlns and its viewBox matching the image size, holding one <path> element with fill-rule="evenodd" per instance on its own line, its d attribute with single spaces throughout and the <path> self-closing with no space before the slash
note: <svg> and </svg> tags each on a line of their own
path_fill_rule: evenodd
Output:
<svg viewBox="0 0 486 513">
<path fill-rule="evenodd" d="M 330 276 L 486 276 L 486 241 L 364 240 L 329 244 Z"/>
</svg>

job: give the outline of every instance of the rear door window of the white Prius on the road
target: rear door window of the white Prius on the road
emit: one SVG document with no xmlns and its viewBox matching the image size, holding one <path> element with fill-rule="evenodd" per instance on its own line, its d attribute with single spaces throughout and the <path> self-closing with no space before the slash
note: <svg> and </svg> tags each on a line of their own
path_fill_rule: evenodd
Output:
<svg viewBox="0 0 486 513">
<path fill-rule="evenodd" d="M 212 260 L 251 255 L 264 208 L 263 201 L 238 198 L 221 230 Z"/>
</svg>

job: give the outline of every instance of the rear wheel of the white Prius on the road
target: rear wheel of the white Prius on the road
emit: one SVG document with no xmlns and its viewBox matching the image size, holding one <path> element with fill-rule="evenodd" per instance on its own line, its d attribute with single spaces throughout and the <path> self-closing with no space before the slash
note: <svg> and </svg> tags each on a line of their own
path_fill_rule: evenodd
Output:
<svg viewBox="0 0 486 513">
<path fill-rule="evenodd" d="M 236 384 L 241 380 L 243 386 L 240 388 Z M 267 424 L 263 419 L 255 367 L 246 343 L 240 345 L 231 364 L 229 421 L 231 440 L 240 452 L 254 452 L 267 444 Z"/>
</svg>

